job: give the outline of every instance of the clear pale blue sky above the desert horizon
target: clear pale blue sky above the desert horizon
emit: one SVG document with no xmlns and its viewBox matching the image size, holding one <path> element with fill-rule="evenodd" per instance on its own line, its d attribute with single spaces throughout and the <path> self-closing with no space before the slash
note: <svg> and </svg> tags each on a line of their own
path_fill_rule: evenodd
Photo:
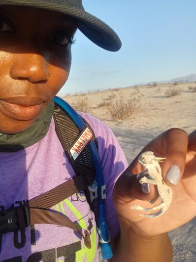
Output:
<svg viewBox="0 0 196 262">
<path fill-rule="evenodd" d="M 122 48 L 105 51 L 78 31 L 60 94 L 196 73 L 196 0 L 83 0 L 83 5 L 117 32 Z"/>
</svg>

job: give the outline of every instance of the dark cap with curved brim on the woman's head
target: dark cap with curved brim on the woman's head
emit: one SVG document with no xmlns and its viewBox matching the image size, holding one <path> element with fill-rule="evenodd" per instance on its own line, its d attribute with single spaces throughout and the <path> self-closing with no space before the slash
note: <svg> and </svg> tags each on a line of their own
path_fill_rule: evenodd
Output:
<svg viewBox="0 0 196 262">
<path fill-rule="evenodd" d="M 98 46 L 118 51 L 121 41 L 103 21 L 86 12 L 82 0 L 0 0 L 0 5 L 22 5 L 44 8 L 64 13 L 78 22 L 78 29 Z"/>
</svg>

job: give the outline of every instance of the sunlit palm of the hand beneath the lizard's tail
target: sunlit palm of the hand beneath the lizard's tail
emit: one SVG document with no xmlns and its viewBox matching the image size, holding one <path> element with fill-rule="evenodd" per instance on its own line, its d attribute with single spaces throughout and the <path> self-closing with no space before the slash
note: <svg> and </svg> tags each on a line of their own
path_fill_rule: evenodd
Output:
<svg viewBox="0 0 196 262">
<path fill-rule="evenodd" d="M 143 218 L 139 216 L 139 214 L 144 214 L 143 212 L 130 209 L 135 204 L 139 204 L 142 207 L 152 207 L 158 205 L 159 200 L 154 205 L 151 205 L 148 201 L 133 199 L 124 204 L 121 202 L 120 205 L 116 203 L 115 206 L 118 213 L 133 222 L 134 226 L 142 231 L 144 235 L 153 236 L 177 228 L 196 216 L 196 203 L 193 201 L 193 198 L 196 199 L 196 193 L 191 195 L 187 191 L 188 188 L 183 183 L 179 183 L 178 186 L 173 188 L 172 204 L 159 218 Z"/>
</svg>

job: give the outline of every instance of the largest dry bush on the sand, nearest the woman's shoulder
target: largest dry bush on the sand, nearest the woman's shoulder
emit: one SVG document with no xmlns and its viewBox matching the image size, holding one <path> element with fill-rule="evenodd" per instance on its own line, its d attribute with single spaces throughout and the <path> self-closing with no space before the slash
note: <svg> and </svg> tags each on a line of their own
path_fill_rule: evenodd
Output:
<svg viewBox="0 0 196 262">
<path fill-rule="evenodd" d="M 131 93 L 130 99 L 125 100 L 123 95 L 119 95 L 119 99 L 107 106 L 107 114 L 114 121 L 125 120 L 139 109 L 139 100 L 141 94 L 138 91 Z"/>
</svg>

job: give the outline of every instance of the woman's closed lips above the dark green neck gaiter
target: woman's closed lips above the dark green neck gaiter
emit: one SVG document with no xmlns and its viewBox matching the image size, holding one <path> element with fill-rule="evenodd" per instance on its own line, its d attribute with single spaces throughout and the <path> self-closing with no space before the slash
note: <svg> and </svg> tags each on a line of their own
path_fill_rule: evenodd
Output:
<svg viewBox="0 0 196 262">
<path fill-rule="evenodd" d="M 0 99 L 0 111 L 9 118 L 28 121 L 36 118 L 41 112 L 44 103 L 42 97 L 9 97 Z"/>
</svg>

